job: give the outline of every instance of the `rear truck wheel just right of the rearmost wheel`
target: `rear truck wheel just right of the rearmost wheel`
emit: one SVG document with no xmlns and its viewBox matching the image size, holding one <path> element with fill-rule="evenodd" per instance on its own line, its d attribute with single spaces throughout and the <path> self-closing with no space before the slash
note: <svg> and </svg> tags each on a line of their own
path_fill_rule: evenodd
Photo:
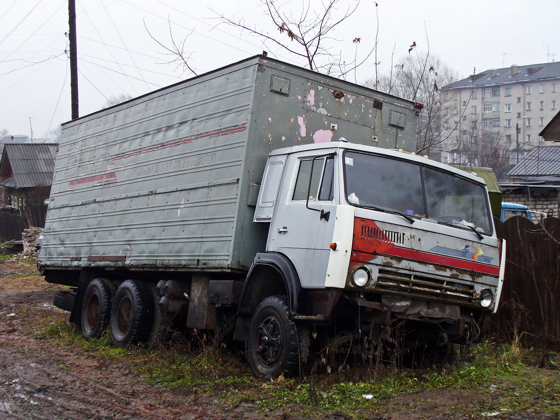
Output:
<svg viewBox="0 0 560 420">
<path fill-rule="evenodd" d="M 146 342 L 151 332 L 153 307 L 153 298 L 147 286 L 134 280 L 122 282 L 111 308 L 111 341 L 116 346 Z"/>
</svg>

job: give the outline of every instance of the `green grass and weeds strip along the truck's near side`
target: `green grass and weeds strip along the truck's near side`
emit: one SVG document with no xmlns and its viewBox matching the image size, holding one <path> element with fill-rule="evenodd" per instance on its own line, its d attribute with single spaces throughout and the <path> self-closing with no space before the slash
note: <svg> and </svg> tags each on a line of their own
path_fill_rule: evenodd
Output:
<svg viewBox="0 0 560 420">
<path fill-rule="evenodd" d="M 116 348 L 106 337 L 83 339 L 60 311 L 28 311 L 22 317 L 39 339 L 72 348 L 83 357 L 124 365 L 153 386 L 211 394 L 220 407 L 244 404 L 261 412 L 304 417 L 342 412 L 368 418 L 372 413 L 404 415 L 404 410 L 414 409 L 438 416 L 546 413 L 560 418 L 560 354 L 554 352 L 549 353 L 550 365 L 539 368 L 537 352 L 487 342 L 473 346 L 455 362 L 431 369 L 368 365 L 354 367 L 365 371 L 363 379 L 342 370 L 267 381 L 255 379 L 242 356 L 212 346 L 204 335 L 152 349 Z M 449 395 L 451 403 L 438 402 L 442 395 Z"/>
</svg>

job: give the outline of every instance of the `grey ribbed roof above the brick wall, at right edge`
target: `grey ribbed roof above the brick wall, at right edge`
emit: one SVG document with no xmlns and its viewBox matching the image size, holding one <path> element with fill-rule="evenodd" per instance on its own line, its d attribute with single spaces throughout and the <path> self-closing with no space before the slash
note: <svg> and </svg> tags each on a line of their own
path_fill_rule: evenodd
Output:
<svg viewBox="0 0 560 420">
<path fill-rule="evenodd" d="M 560 146 L 535 147 L 507 175 L 511 178 L 560 175 Z"/>
</svg>

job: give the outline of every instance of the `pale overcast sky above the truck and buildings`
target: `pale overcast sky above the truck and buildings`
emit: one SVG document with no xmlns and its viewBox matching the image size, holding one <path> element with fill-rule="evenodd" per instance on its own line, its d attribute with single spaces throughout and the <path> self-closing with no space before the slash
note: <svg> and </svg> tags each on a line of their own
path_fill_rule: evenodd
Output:
<svg viewBox="0 0 560 420">
<path fill-rule="evenodd" d="M 300 10 L 302 0 L 283 7 Z M 320 0 L 311 0 L 320 6 Z M 356 6 L 340 0 L 340 13 Z M 489 68 L 560 60 L 559 0 L 378 0 L 380 71 L 389 72 L 413 41 L 419 51 L 439 55 L 461 78 Z M 364 59 L 375 43 L 374 1 L 362 0 L 357 11 L 334 32 L 326 46 L 351 62 Z M 305 65 L 272 43 L 235 27 L 218 25 L 216 13 L 244 18 L 277 36 L 259 0 L 76 0 L 80 115 L 104 108 L 121 94 L 138 96 L 192 77 L 167 63 L 166 51 L 150 37 L 171 46 L 186 38 L 184 52 L 197 73 L 211 71 L 260 54 Z M 335 16 L 335 15 L 334 15 Z M 170 24 L 168 23 L 168 19 Z M 67 0 L 0 0 L 0 130 L 45 137 L 71 118 Z M 427 32 L 427 38 L 426 38 Z M 285 36 L 285 35 L 281 35 Z M 352 43 L 356 37 L 361 43 Z M 287 39 L 287 38 L 286 38 Z M 289 41 L 287 41 L 289 44 Z M 292 43 L 293 44 L 293 43 Z M 557 55 L 554 55 L 557 54 Z M 374 56 L 348 80 L 374 77 Z"/>
</svg>

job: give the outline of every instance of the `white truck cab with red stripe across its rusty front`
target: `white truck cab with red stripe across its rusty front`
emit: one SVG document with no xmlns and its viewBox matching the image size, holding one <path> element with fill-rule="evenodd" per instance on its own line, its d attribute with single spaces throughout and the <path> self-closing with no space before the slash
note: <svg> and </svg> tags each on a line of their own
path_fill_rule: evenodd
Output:
<svg viewBox="0 0 560 420">
<path fill-rule="evenodd" d="M 282 328 L 271 325 L 272 315 L 254 307 L 251 273 L 271 264 L 265 254 L 286 260 L 298 280 L 285 302 L 296 325 L 346 317 L 363 331 L 407 321 L 424 337 L 464 342 L 476 339 L 484 314 L 498 307 L 505 244 L 494 231 L 486 185 L 425 157 L 347 142 L 274 151 L 254 222 L 270 223 L 267 253 L 248 275 L 236 334 L 262 374 L 277 373 L 277 344 L 287 340 L 273 333 Z M 244 329 L 245 314 L 253 314 L 253 325 Z M 305 340 L 296 342 L 298 351 Z"/>
</svg>

